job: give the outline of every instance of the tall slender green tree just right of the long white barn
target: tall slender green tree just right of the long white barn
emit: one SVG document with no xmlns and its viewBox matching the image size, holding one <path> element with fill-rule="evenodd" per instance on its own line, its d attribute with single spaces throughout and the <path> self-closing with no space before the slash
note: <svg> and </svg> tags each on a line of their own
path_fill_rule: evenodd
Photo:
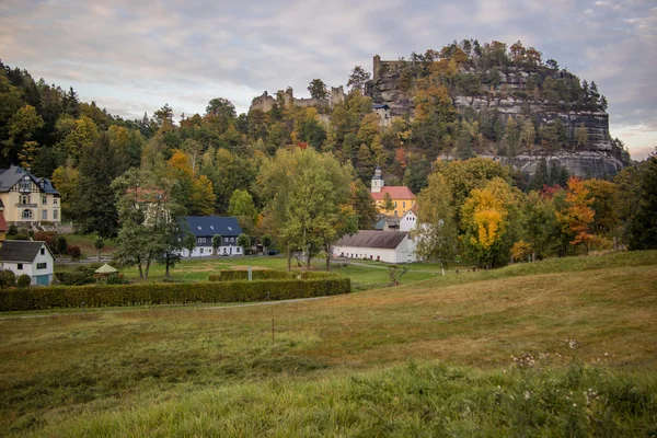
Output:
<svg viewBox="0 0 657 438">
<path fill-rule="evenodd" d="M 413 232 L 417 255 L 440 263 L 442 275 L 457 257 L 459 230 L 451 200 L 445 177 L 431 174 L 429 185 L 417 196 L 417 226 Z"/>
</svg>

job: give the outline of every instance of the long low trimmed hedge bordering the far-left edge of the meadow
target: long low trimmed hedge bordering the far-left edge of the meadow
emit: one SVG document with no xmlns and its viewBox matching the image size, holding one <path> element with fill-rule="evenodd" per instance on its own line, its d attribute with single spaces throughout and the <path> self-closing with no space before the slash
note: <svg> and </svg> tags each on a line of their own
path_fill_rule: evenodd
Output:
<svg viewBox="0 0 657 438">
<path fill-rule="evenodd" d="M 315 279 L 50 286 L 0 291 L 0 311 L 49 308 L 287 300 L 348 293 L 348 277 Z M 269 293 L 269 297 L 267 297 Z"/>
</svg>

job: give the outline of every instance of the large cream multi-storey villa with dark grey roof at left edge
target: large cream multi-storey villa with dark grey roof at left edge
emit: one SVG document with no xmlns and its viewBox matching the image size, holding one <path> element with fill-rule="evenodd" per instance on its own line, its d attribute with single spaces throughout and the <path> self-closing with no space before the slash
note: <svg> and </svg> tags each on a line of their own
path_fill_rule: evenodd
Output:
<svg viewBox="0 0 657 438">
<path fill-rule="evenodd" d="M 61 221 L 61 197 L 49 180 L 30 168 L 0 169 L 0 214 L 9 224 L 32 226 Z"/>
</svg>

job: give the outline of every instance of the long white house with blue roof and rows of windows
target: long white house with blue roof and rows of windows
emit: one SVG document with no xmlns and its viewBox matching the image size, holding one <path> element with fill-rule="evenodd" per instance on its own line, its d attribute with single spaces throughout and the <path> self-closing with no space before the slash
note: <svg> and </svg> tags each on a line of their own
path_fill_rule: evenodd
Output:
<svg viewBox="0 0 657 438">
<path fill-rule="evenodd" d="M 208 257 L 212 255 L 212 237 L 221 235 L 221 246 L 217 250 L 218 255 L 242 255 L 242 247 L 238 246 L 238 237 L 242 234 L 242 228 L 238 219 L 233 217 L 218 216 L 186 216 L 183 218 L 183 231 L 194 234 L 196 247 L 189 253 L 183 250 L 183 257 Z"/>
</svg>

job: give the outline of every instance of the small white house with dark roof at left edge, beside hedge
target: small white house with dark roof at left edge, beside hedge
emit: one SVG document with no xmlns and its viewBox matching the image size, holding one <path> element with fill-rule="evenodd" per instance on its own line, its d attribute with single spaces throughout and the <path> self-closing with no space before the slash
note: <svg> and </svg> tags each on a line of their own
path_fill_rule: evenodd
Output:
<svg viewBox="0 0 657 438">
<path fill-rule="evenodd" d="M 16 277 L 26 274 L 32 285 L 48 286 L 53 283 L 55 256 L 46 242 L 8 240 L 0 246 L 0 269 L 12 270 Z"/>
</svg>

